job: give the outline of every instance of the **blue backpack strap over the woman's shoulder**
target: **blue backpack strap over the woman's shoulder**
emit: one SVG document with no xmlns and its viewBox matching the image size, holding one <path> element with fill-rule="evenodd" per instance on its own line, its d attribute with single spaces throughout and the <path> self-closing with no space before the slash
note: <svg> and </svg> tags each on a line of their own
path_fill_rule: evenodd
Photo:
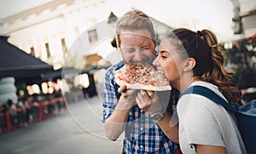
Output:
<svg viewBox="0 0 256 154">
<path fill-rule="evenodd" d="M 212 100 L 213 102 L 215 102 L 221 106 L 224 106 L 224 108 L 229 111 L 233 111 L 236 113 L 239 112 L 238 108 L 231 106 L 230 103 L 228 103 L 226 100 L 224 100 L 218 94 L 213 92 L 211 89 L 203 87 L 203 86 L 196 85 L 196 86 L 189 87 L 188 89 L 186 89 L 184 91 L 183 94 L 181 94 L 180 97 L 182 97 L 184 94 L 199 94 L 199 95 L 206 97 L 209 100 Z"/>
</svg>

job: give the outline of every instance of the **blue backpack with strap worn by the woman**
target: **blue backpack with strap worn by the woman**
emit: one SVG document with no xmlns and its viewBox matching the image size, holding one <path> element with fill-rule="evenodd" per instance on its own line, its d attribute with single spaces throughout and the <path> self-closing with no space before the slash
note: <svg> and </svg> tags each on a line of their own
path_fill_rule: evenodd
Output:
<svg viewBox="0 0 256 154">
<path fill-rule="evenodd" d="M 247 148 L 247 154 L 256 153 L 256 100 L 247 102 L 245 106 L 235 107 L 218 94 L 214 93 L 211 89 L 202 86 L 190 87 L 183 94 L 200 94 L 224 106 L 226 110 L 232 111 L 237 118 L 241 137 Z"/>
</svg>

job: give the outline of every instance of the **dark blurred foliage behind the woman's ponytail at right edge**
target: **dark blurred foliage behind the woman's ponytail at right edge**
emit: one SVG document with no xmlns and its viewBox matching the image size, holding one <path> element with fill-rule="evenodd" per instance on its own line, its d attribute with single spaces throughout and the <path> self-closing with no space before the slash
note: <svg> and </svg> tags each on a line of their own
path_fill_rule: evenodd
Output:
<svg viewBox="0 0 256 154">
<path fill-rule="evenodd" d="M 238 88 L 256 87 L 256 38 L 247 38 L 223 43 L 223 48 L 227 57 L 226 66 L 232 66 L 235 71 L 233 83 Z"/>
</svg>

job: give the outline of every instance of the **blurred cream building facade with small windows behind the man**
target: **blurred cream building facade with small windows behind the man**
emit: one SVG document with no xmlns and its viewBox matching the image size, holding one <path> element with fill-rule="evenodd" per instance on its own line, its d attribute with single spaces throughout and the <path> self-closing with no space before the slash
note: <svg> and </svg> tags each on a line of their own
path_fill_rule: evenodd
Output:
<svg viewBox="0 0 256 154">
<path fill-rule="evenodd" d="M 117 16 L 110 8 L 106 0 L 55 0 L 4 18 L 3 34 L 9 36 L 9 43 L 55 69 L 80 69 L 88 66 L 88 54 L 113 59 L 108 55 L 116 50 L 111 42 Z M 152 20 L 160 40 L 171 27 Z"/>
</svg>

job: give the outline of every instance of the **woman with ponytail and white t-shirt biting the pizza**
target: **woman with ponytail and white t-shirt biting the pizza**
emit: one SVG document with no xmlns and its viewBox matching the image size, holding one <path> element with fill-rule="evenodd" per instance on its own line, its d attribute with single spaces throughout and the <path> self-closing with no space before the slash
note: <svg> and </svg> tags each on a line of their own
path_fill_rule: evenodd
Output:
<svg viewBox="0 0 256 154">
<path fill-rule="evenodd" d="M 153 64 L 158 71 L 166 71 L 181 94 L 201 85 L 229 102 L 240 100 L 241 92 L 232 87 L 232 73 L 224 69 L 224 54 L 212 31 L 173 30 L 160 43 Z M 206 97 L 183 95 L 177 102 L 177 116 L 183 153 L 247 153 L 235 117 Z"/>
</svg>

